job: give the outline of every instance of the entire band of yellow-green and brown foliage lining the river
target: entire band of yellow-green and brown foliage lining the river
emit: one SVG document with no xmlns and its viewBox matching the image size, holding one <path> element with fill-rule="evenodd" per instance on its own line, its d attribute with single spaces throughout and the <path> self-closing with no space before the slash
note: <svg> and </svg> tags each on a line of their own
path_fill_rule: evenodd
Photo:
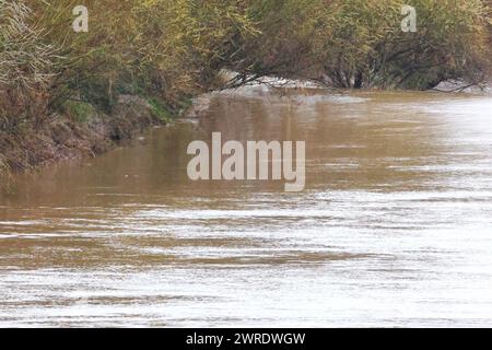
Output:
<svg viewBox="0 0 492 350">
<path fill-rule="evenodd" d="M 72 30 L 81 3 L 87 33 Z M 401 31 L 403 4 L 417 10 L 414 33 Z M 110 113 L 130 94 L 173 113 L 216 88 L 222 69 L 239 73 L 232 85 L 479 82 L 491 72 L 491 18 L 489 0 L 0 0 L 0 149 L 73 102 Z"/>
</svg>

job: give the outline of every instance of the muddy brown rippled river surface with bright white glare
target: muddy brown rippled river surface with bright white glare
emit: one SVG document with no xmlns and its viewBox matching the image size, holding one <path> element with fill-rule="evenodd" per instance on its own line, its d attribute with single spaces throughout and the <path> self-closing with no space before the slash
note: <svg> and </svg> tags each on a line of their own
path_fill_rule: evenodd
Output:
<svg viewBox="0 0 492 350">
<path fill-rule="evenodd" d="M 306 188 L 191 182 L 192 140 L 306 141 Z M 17 176 L 0 326 L 492 326 L 492 98 L 214 94 L 200 119 Z"/>
</svg>

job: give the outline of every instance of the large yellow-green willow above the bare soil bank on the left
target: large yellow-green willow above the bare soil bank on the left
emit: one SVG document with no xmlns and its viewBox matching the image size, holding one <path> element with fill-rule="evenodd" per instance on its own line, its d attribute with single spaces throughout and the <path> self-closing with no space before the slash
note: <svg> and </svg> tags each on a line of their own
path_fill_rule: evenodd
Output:
<svg viewBox="0 0 492 350">
<path fill-rule="evenodd" d="M 54 108 L 79 98 L 108 109 L 118 93 L 157 94 L 173 104 L 207 88 L 236 37 L 255 31 L 236 0 L 86 0 L 87 33 L 71 31 L 80 1 L 24 2 L 62 57 Z"/>
</svg>

